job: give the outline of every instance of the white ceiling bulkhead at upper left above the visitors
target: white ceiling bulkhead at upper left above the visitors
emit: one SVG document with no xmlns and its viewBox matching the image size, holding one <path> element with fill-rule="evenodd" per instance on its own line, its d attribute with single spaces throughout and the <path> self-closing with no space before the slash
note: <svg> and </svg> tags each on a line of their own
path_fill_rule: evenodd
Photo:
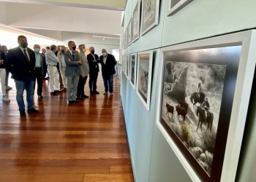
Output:
<svg viewBox="0 0 256 182">
<path fill-rule="evenodd" d="M 109 7 L 107 2 L 111 4 L 123 0 L 83 0 L 83 3 L 81 1 L 72 0 L 70 3 L 67 0 L 21 0 L 17 3 L 12 0 L 0 0 L 0 23 L 15 28 L 31 29 L 32 32 L 33 29 L 38 29 L 107 35 L 122 33 L 120 9 L 124 7 L 121 7 L 120 3 L 116 3 L 116 7 Z M 101 3 L 102 1 L 105 1 L 105 4 Z"/>
</svg>

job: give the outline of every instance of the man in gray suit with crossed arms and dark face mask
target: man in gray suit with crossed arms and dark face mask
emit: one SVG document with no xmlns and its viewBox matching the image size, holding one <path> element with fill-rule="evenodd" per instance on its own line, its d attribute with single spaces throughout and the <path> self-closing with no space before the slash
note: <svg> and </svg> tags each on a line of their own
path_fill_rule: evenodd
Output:
<svg viewBox="0 0 256 182">
<path fill-rule="evenodd" d="M 69 41 L 68 47 L 69 50 L 64 52 L 64 57 L 66 62 L 65 75 L 67 76 L 67 103 L 71 105 L 78 103 L 76 97 L 80 76 L 79 66 L 82 65 L 82 61 L 80 60 L 78 52 L 75 50 L 75 41 Z"/>
</svg>

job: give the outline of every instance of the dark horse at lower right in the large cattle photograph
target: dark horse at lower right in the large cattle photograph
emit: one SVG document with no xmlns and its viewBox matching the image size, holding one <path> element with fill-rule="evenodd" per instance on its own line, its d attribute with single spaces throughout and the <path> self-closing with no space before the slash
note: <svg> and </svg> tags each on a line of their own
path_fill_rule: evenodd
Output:
<svg viewBox="0 0 256 182">
<path fill-rule="evenodd" d="M 203 123 L 206 123 L 207 124 L 206 131 L 209 130 L 211 132 L 212 123 L 214 121 L 214 114 L 212 114 L 210 111 L 208 111 L 208 114 L 206 116 L 205 112 L 206 111 L 203 110 L 203 108 L 200 108 L 199 106 L 197 106 L 196 114 L 199 117 L 198 124 L 197 124 L 197 130 L 198 130 L 199 125 L 200 125 L 200 129 L 202 130 Z"/>
</svg>

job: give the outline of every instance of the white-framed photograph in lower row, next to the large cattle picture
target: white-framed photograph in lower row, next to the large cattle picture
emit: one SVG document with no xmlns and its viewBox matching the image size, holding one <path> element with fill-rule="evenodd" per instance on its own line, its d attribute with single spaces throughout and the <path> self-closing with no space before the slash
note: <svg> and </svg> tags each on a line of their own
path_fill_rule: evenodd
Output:
<svg viewBox="0 0 256 182">
<path fill-rule="evenodd" d="M 150 108 L 153 51 L 138 53 L 136 91 L 147 110 Z"/>
</svg>

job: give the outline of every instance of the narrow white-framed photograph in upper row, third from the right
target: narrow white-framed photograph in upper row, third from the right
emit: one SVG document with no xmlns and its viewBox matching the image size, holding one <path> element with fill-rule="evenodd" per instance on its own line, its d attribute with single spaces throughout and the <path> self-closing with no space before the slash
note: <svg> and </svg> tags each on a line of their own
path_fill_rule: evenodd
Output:
<svg viewBox="0 0 256 182">
<path fill-rule="evenodd" d="M 132 13 L 132 42 L 140 37 L 140 0 L 138 0 Z"/>
</svg>

